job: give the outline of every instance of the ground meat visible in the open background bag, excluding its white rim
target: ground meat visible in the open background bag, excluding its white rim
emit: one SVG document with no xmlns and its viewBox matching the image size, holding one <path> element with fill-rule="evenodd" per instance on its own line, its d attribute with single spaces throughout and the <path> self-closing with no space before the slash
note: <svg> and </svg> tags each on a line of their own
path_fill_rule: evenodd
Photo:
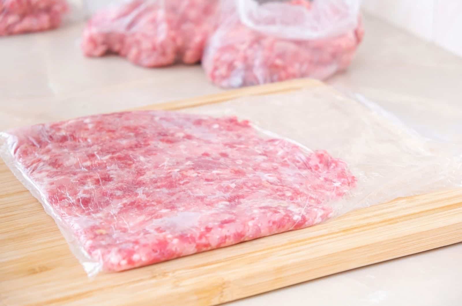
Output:
<svg viewBox="0 0 462 306">
<path fill-rule="evenodd" d="M 267 6 L 269 10 L 271 5 L 262 7 Z M 303 6 L 300 10 L 316 10 L 316 6 L 306 0 L 294 0 L 278 6 L 278 10 L 291 6 Z M 335 23 L 346 15 L 341 7 L 333 7 L 328 14 L 320 13 L 323 22 L 331 20 L 331 23 Z M 299 18 L 293 10 L 280 15 L 293 23 Z M 272 21 L 269 17 L 263 21 L 267 27 L 271 27 L 271 22 L 280 22 L 279 18 Z M 313 23 L 316 24 L 316 21 Z M 304 30 L 304 26 L 299 26 L 297 31 Z M 221 87 L 249 86 L 301 77 L 324 80 L 349 66 L 363 36 L 364 29 L 359 17 L 356 28 L 334 37 L 291 39 L 256 31 L 243 24 L 234 14 L 210 37 L 202 64 L 208 78 Z"/>
</svg>

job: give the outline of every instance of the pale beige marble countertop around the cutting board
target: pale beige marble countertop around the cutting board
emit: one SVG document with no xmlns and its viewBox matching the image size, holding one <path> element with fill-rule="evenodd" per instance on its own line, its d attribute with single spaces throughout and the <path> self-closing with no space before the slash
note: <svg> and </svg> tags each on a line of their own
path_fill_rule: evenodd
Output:
<svg viewBox="0 0 462 306">
<path fill-rule="evenodd" d="M 78 47 L 82 27 L 0 38 L 0 129 L 221 91 L 199 66 L 143 69 L 117 57 L 86 59 Z M 427 136 L 462 141 L 462 58 L 367 16 L 365 30 L 349 71 L 328 83 L 381 104 Z M 461 275 L 457 244 L 229 305 L 462 305 Z"/>
</svg>

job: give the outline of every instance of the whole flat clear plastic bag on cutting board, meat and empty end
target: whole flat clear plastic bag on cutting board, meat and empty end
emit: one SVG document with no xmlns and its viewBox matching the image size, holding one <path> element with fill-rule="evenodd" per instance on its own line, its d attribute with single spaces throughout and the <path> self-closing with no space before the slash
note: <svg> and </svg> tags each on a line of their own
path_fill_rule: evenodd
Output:
<svg viewBox="0 0 462 306">
<path fill-rule="evenodd" d="M 460 151 L 327 87 L 0 135 L 2 158 L 89 275 L 462 182 Z"/>
</svg>

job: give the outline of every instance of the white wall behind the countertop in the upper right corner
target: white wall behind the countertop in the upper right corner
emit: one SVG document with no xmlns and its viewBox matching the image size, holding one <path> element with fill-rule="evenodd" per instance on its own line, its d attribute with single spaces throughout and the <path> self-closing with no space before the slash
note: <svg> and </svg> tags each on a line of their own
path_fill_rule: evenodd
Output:
<svg viewBox="0 0 462 306">
<path fill-rule="evenodd" d="M 364 0 L 363 8 L 462 56 L 462 0 Z"/>
</svg>

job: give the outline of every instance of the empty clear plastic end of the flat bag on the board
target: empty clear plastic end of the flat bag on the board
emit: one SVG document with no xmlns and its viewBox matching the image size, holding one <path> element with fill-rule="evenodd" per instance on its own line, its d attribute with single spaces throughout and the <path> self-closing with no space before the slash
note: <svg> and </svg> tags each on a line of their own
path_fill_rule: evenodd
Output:
<svg viewBox="0 0 462 306">
<path fill-rule="evenodd" d="M 374 102 L 346 98 L 329 86 L 182 111 L 248 119 L 344 160 L 358 184 L 335 202 L 336 215 L 462 186 L 460 144 L 424 137 Z"/>
</svg>

